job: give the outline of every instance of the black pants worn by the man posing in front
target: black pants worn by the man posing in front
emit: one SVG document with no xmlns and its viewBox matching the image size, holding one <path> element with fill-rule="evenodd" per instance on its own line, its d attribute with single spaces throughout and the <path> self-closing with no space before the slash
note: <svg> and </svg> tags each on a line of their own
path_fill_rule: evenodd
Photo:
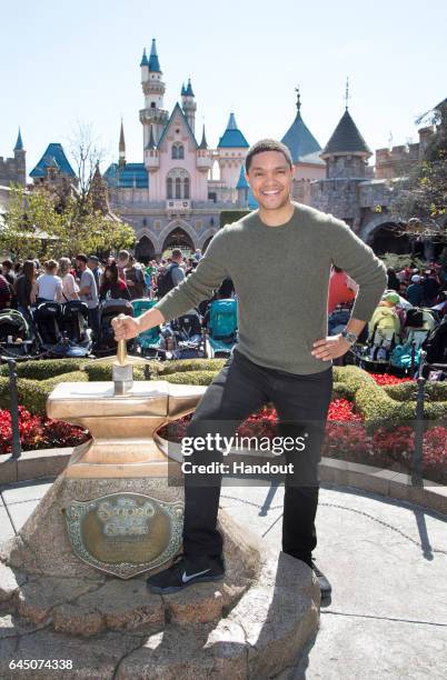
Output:
<svg viewBox="0 0 447 680">
<path fill-rule="evenodd" d="M 282 550 L 309 566 L 317 544 L 318 462 L 331 391 L 331 366 L 319 373 L 298 376 L 258 366 L 236 350 L 203 394 L 186 432 L 191 438 L 208 432 L 231 437 L 244 420 L 268 402 L 277 410 L 282 434 L 308 432 L 304 451 L 286 453 L 287 462 L 294 462 L 294 474 L 285 480 Z M 213 448 L 195 449 L 188 460 L 193 464 L 221 462 L 222 454 Z M 222 552 L 222 537 L 216 528 L 220 482 L 219 474 L 213 486 L 200 484 L 197 476 L 185 474 L 185 554 L 193 558 Z"/>
</svg>

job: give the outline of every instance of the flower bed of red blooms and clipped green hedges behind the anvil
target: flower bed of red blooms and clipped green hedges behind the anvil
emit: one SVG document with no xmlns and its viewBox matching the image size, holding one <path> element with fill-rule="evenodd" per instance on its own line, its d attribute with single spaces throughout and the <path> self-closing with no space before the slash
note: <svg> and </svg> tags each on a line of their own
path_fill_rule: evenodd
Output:
<svg viewBox="0 0 447 680">
<path fill-rule="evenodd" d="M 169 382 L 209 384 L 224 360 L 151 362 L 153 376 Z M 34 366 L 36 364 L 36 366 Z M 8 411 L 7 367 L 0 367 L 0 453 L 11 450 L 11 421 Z M 23 450 L 77 446 L 88 432 L 74 426 L 44 418 L 46 400 L 59 381 L 110 380 L 111 367 L 80 360 L 30 361 L 18 364 L 21 408 L 20 431 Z M 137 367 L 136 377 L 143 379 Z M 334 367 L 334 393 L 329 407 L 322 456 L 408 472 L 414 453 L 415 393 L 409 378 L 367 373 L 358 367 Z M 424 474 L 447 483 L 447 384 L 426 383 Z M 31 412 L 31 414 L 30 414 Z M 161 437 L 180 441 L 190 416 L 166 426 Z M 239 437 L 277 437 L 277 414 L 271 404 L 248 418 Z"/>
</svg>

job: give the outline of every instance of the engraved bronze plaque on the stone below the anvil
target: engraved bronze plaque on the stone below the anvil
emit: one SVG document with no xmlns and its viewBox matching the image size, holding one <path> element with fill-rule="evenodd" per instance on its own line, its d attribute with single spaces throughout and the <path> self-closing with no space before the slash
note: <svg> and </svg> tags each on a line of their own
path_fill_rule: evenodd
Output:
<svg viewBox="0 0 447 680">
<path fill-rule="evenodd" d="M 110 493 L 64 509 L 74 553 L 121 579 L 160 567 L 181 547 L 183 503 L 142 493 Z"/>
</svg>

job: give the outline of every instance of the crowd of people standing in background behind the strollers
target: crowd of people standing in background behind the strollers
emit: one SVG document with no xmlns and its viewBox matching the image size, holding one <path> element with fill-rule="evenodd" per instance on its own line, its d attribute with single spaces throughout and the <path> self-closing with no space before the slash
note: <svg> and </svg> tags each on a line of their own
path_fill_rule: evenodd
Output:
<svg viewBox="0 0 447 680">
<path fill-rule="evenodd" d="M 81 300 L 87 303 L 89 327 L 95 334 L 99 330 L 99 309 L 105 300 L 161 299 L 195 270 L 201 257 L 199 249 L 189 258 L 173 249 L 170 257 L 147 263 L 138 262 L 127 250 L 103 261 L 95 254 L 83 253 L 71 259 L 62 257 L 59 261 L 50 259 L 43 264 L 36 259 L 17 262 L 7 259 L 0 270 L 0 310 L 18 309 L 30 321 L 32 310 L 40 302 Z M 430 262 L 428 269 L 419 271 L 414 262 L 408 262 L 399 271 L 388 268 L 387 276 L 387 293 L 394 291 L 395 298 L 391 300 L 389 294 L 389 300 L 383 300 L 380 307 L 394 309 L 400 300 L 400 307 L 407 302 L 413 307 L 437 307 L 447 313 L 447 280 L 440 264 Z M 328 313 L 340 306 L 351 304 L 357 289 L 357 283 L 345 271 L 332 267 Z M 226 279 L 215 297 L 232 296 L 232 281 Z M 206 313 L 206 302 L 200 313 Z"/>
</svg>

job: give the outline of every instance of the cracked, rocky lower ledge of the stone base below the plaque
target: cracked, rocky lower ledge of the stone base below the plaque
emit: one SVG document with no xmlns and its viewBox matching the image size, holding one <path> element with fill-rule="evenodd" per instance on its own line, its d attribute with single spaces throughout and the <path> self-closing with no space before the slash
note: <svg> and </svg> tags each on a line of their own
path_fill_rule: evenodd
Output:
<svg viewBox="0 0 447 680">
<path fill-rule="evenodd" d="M 274 678 L 294 667 L 317 631 L 318 583 L 305 563 L 284 553 L 266 556 L 245 584 L 235 584 L 236 568 L 222 584 L 156 596 L 143 579 L 26 579 L 3 564 L 0 677 L 47 680 L 48 669 L 30 676 L 9 662 L 70 659 L 72 669 L 61 677 Z"/>
</svg>

